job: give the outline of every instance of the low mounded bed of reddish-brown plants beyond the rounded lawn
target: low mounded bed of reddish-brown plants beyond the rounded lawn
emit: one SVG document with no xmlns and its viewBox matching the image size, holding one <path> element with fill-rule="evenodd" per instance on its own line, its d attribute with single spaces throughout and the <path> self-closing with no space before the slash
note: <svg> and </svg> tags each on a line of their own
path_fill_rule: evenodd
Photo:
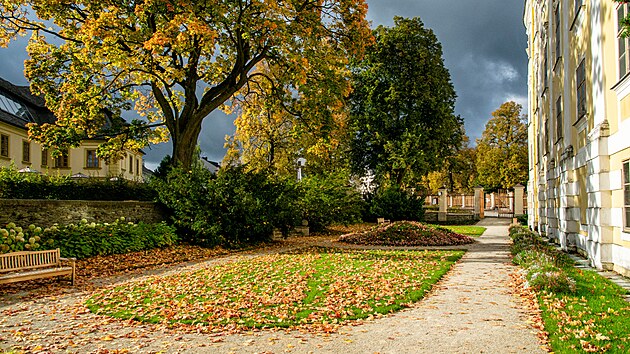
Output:
<svg viewBox="0 0 630 354">
<path fill-rule="evenodd" d="M 457 246 L 474 243 L 472 237 L 415 221 L 397 221 L 339 236 L 339 242 L 374 246 Z"/>
</svg>

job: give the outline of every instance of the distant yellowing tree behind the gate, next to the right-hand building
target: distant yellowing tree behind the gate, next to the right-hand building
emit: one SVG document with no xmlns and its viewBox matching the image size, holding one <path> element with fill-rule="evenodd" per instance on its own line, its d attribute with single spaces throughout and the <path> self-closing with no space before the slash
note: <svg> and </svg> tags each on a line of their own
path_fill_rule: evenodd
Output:
<svg viewBox="0 0 630 354">
<path fill-rule="evenodd" d="M 527 119 L 522 108 L 512 101 L 503 103 L 477 139 L 477 172 L 485 188 L 527 184 Z"/>
</svg>

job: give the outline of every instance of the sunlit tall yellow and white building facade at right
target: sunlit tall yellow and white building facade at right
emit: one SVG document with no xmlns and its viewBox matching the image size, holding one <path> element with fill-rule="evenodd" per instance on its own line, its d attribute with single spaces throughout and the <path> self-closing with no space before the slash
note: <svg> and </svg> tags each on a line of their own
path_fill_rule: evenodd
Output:
<svg viewBox="0 0 630 354">
<path fill-rule="evenodd" d="M 630 275 L 627 4 L 527 0 L 529 223 L 597 268 Z"/>
</svg>

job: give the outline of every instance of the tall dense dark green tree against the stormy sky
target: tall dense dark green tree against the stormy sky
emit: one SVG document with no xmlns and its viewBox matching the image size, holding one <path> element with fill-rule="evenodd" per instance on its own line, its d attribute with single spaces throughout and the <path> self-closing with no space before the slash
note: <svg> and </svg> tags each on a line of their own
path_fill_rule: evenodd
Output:
<svg viewBox="0 0 630 354">
<path fill-rule="evenodd" d="M 419 18 L 379 26 L 353 71 L 352 161 L 379 183 L 411 186 L 461 141 L 455 90 L 442 46 Z"/>
</svg>

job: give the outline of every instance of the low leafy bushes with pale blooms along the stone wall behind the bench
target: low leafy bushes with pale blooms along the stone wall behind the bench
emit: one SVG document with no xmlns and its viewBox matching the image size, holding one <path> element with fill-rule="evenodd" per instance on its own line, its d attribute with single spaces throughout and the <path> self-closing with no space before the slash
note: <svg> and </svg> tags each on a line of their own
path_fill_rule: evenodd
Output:
<svg viewBox="0 0 630 354">
<path fill-rule="evenodd" d="M 35 225 L 22 229 L 10 223 L 0 229 L 0 234 L 2 253 L 59 248 L 63 257 L 77 259 L 149 250 L 177 242 L 175 228 L 166 223 L 134 224 L 124 219 L 103 224 L 84 219 L 80 224 L 55 225 L 43 230 Z"/>
</svg>

